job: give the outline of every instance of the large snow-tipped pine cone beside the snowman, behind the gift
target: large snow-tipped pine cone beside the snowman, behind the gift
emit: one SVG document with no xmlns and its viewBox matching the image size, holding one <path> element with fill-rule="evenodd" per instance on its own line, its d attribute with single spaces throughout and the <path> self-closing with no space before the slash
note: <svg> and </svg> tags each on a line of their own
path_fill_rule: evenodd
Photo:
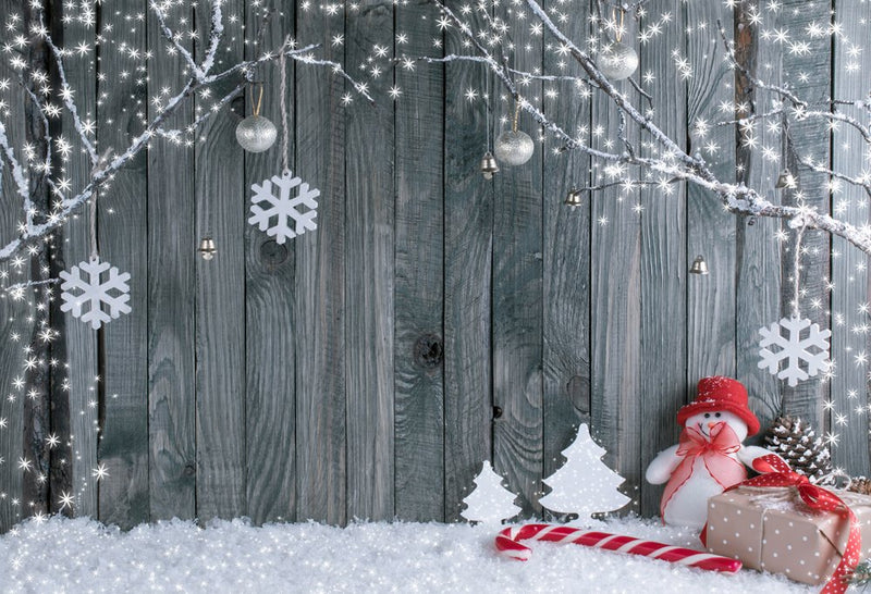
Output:
<svg viewBox="0 0 871 594">
<path fill-rule="evenodd" d="M 792 469 L 811 483 L 832 485 L 835 478 L 832 460 L 823 441 L 799 418 L 784 416 L 772 421 L 762 438 L 763 445 L 786 460 Z"/>
</svg>

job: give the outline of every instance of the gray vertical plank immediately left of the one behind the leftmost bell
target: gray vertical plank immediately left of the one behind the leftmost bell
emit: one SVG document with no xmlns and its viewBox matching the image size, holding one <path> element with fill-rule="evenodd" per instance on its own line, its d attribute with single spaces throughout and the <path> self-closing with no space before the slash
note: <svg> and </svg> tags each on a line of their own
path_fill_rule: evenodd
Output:
<svg viewBox="0 0 871 594">
<path fill-rule="evenodd" d="M 169 11 L 173 21 L 185 15 Z M 167 51 L 149 11 L 149 78 L 177 92 L 184 61 Z M 188 49 L 192 44 L 187 42 Z M 168 126 L 184 128 L 193 99 Z M 157 107 L 149 102 L 149 116 Z M 148 443 L 150 519 L 196 515 L 194 148 L 169 139 L 148 151 Z M 159 172 L 159 173 L 158 173 Z"/>
</svg>

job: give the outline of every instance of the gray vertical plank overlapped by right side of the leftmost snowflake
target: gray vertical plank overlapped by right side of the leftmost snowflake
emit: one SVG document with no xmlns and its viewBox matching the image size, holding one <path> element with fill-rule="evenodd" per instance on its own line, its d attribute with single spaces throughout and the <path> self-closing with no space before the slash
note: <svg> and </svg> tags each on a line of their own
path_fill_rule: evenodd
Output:
<svg viewBox="0 0 871 594">
<path fill-rule="evenodd" d="M 106 75 L 98 92 L 107 92 L 97 108 L 98 150 L 120 152 L 142 133 L 140 110 L 148 102 L 147 85 L 130 75 L 131 64 L 118 47 L 144 51 L 145 27 L 131 27 L 125 14 L 145 12 L 144 0 L 121 0 L 101 13 L 113 25 L 112 42 L 100 54 L 99 71 Z M 108 49 L 107 48 L 107 49 Z M 126 75 L 122 73 L 127 73 Z M 100 482 L 99 518 L 130 528 L 149 519 L 148 479 L 148 211 L 145 152 L 118 172 L 98 200 L 100 258 L 131 275 L 128 305 L 132 314 L 105 325 L 99 461 L 109 475 Z"/>
</svg>

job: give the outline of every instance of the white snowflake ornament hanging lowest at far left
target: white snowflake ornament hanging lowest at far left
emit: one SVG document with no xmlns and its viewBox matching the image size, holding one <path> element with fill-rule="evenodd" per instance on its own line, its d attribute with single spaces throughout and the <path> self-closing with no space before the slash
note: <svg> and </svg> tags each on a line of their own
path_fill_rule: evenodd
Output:
<svg viewBox="0 0 871 594">
<path fill-rule="evenodd" d="M 106 271 L 109 271 L 109 277 L 103 282 L 100 277 Z M 61 311 L 72 311 L 73 318 L 90 323 L 94 330 L 122 313 L 130 313 L 130 273 L 119 274 L 115 267 L 95 256 L 89 262 L 79 262 L 70 272 L 62 271 L 60 276 L 63 281 Z M 87 311 L 83 312 L 83 309 Z"/>
</svg>

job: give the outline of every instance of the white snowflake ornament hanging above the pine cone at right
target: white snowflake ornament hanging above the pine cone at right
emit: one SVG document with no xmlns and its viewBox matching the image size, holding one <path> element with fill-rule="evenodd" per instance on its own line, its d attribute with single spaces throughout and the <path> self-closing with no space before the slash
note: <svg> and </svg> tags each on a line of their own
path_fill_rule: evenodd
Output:
<svg viewBox="0 0 871 594">
<path fill-rule="evenodd" d="M 782 332 L 783 330 L 786 332 Z M 801 334 L 806 330 L 806 337 L 802 338 Z M 818 324 L 796 315 L 772 323 L 770 327 L 761 327 L 759 334 L 762 336 L 759 341 L 759 356 L 762 358 L 759 369 L 768 368 L 769 373 L 787 380 L 790 386 L 815 376 L 820 371 L 829 371 L 831 331 L 820 330 Z M 771 350 L 771 346 L 778 347 L 780 350 Z M 782 370 L 781 361 L 786 361 L 786 367 Z M 802 361 L 807 370 L 802 369 Z"/>
</svg>

